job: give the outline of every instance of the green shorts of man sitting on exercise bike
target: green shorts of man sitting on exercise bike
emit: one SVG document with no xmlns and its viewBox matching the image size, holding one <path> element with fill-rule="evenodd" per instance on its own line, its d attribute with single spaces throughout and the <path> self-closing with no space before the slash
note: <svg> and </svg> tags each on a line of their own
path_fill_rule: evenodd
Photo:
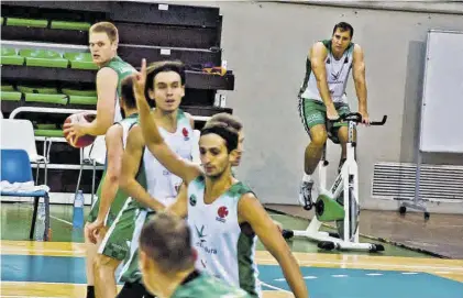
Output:
<svg viewBox="0 0 463 298">
<path fill-rule="evenodd" d="M 339 115 L 350 113 L 349 104 L 346 103 L 334 103 L 334 108 L 338 111 Z M 307 133 L 310 135 L 310 128 L 315 125 L 322 124 L 327 129 L 328 137 L 333 142 L 339 144 L 338 130 L 340 126 L 346 126 L 348 123 L 335 123 L 334 125 L 327 119 L 327 107 L 323 102 L 299 98 L 299 115 L 302 120 L 304 128 Z"/>
</svg>

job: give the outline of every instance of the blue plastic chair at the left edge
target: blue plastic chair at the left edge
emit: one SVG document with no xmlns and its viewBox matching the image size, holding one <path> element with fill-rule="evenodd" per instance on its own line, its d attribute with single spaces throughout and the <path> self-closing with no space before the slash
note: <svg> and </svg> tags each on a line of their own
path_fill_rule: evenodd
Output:
<svg viewBox="0 0 463 298">
<path fill-rule="evenodd" d="M 1 150 L 1 177 L 2 181 L 7 180 L 10 184 L 33 181 L 32 168 L 27 152 L 24 150 Z M 36 190 L 31 192 L 25 191 L 4 191 L 0 190 L 1 196 L 5 197 L 33 197 L 34 212 L 32 216 L 31 231 L 29 239 L 34 239 L 35 220 L 37 218 L 38 200 L 44 198 L 45 202 L 45 231 L 43 239 L 48 240 L 49 230 L 49 197 L 45 190 Z"/>
</svg>

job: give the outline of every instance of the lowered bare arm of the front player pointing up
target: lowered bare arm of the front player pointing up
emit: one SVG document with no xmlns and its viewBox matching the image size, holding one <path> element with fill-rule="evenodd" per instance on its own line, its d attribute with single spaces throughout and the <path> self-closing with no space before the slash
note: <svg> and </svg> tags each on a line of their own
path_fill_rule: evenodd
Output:
<svg viewBox="0 0 463 298">
<path fill-rule="evenodd" d="M 283 274 L 295 297 L 308 298 L 309 293 L 296 258 L 283 239 L 278 227 L 252 192 L 247 192 L 241 197 L 238 203 L 238 213 L 239 219 L 251 225 L 265 249 L 268 250 L 282 266 Z"/>
</svg>

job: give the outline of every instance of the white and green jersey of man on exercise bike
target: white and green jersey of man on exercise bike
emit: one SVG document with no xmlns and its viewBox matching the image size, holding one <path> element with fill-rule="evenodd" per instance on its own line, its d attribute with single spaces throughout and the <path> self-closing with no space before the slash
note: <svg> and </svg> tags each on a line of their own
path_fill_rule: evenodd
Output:
<svg viewBox="0 0 463 298">
<path fill-rule="evenodd" d="M 321 41 L 328 49 L 324 60 L 327 68 L 328 88 L 333 102 L 348 103 L 345 87 L 348 86 L 349 74 L 352 68 L 354 44 L 351 43 L 340 59 L 335 59 L 331 49 L 331 40 Z M 307 58 L 306 77 L 299 91 L 299 97 L 323 101 L 317 87 L 317 78 L 313 75 L 310 58 Z"/>
</svg>

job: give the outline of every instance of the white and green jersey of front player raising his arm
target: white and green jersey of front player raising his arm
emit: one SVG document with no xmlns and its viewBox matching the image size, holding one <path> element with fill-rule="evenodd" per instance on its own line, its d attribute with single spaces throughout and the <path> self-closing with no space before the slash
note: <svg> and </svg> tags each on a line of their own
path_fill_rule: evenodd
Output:
<svg viewBox="0 0 463 298">
<path fill-rule="evenodd" d="M 256 236 L 253 232 L 244 233 L 238 221 L 238 202 L 251 189 L 236 183 L 214 202 L 206 205 L 205 188 L 202 176 L 188 185 L 187 221 L 192 231 L 192 245 L 198 251 L 196 267 L 253 297 L 261 297 L 254 258 Z"/>
</svg>

